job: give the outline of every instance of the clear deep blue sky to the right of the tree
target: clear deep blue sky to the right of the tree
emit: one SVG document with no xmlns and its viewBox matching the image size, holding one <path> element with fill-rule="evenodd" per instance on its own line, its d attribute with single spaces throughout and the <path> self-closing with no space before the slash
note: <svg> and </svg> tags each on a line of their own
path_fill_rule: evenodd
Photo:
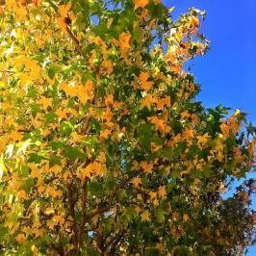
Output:
<svg viewBox="0 0 256 256">
<path fill-rule="evenodd" d="M 173 16 L 188 8 L 206 11 L 201 31 L 211 49 L 192 61 L 192 73 L 201 85 L 198 99 L 205 107 L 222 104 L 247 113 L 256 126 L 256 1 L 255 0 L 163 0 L 175 6 Z M 256 178 L 255 173 L 249 177 Z M 253 198 L 256 210 L 256 198 Z M 256 246 L 249 256 L 256 255 Z"/>
</svg>

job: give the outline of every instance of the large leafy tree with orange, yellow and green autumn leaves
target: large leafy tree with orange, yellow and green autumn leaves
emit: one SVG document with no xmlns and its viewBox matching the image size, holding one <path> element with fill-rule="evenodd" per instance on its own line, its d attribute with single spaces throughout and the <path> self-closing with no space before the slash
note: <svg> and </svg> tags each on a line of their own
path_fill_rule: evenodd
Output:
<svg viewBox="0 0 256 256">
<path fill-rule="evenodd" d="M 1 5 L 1 254 L 242 255 L 254 181 L 221 192 L 253 167 L 255 131 L 195 100 L 183 64 L 208 49 L 204 13 Z"/>
</svg>

